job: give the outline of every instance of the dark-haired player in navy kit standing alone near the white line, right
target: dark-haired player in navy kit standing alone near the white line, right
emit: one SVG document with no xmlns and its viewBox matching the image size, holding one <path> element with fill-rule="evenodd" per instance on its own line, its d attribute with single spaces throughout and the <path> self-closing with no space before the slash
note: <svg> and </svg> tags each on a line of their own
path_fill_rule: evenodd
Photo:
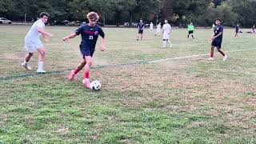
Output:
<svg viewBox="0 0 256 144">
<path fill-rule="evenodd" d="M 223 37 L 223 26 L 221 25 L 221 19 L 216 19 L 216 26 L 214 28 L 214 36 L 210 38 L 212 41 L 211 43 L 211 50 L 210 50 L 210 58 L 208 61 L 214 60 L 214 47 L 217 47 L 218 52 L 220 52 L 223 56 L 223 61 L 226 61 L 227 55 L 221 50 L 222 48 L 222 37 Z"/>
</svg>

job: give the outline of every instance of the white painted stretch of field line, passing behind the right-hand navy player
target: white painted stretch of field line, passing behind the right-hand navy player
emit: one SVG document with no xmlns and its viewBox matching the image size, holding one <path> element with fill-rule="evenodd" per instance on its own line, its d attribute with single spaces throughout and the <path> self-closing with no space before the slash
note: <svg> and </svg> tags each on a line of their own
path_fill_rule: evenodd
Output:
<svg viewBox="0 0 256 144">
<path fill-rule="evenodd" d="M 232 51 L 227 51 L 227 53 L 234 53 L 234 52 L 248 51 L 248 50 L 256 50 L 256 48 L 244 49 L 244 50 L 232 50 Z M 176 59 L 194 58 L 194 57 L 200 57 L 200 56 L 205 56 L 205 55 L 209 55 L 209 53 L 208 53 L 208 54 L 195 54 L 195 55 L 189 55 L 189 56 L 183 56 L 183 57 L 176 57 L 176 58 L 164 58 L 164 59 L 159 59 L 159 60 L 155 60 L 155 61 L 150 61 L 150 62 L 148 62 L 148 63 L 163 62 L 163 61 L 176 60 Z"/>
</svg>

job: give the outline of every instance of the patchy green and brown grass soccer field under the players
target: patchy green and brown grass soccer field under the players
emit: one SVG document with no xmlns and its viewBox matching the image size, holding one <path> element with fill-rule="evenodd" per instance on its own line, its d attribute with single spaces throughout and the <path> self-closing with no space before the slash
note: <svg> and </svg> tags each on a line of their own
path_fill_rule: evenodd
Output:
<svg viewBox="0 0 256 144">
<path fill-rule="evenodd" d="M 61 38 L 76 27 L 46 26 L 55 34 L 47 74 L 35 73 L 38 54 L 32 71 L 21 66 L 29 28 L 0 26 L 0 143 L 256 143 L 256 35 L 226 29 L 230 57 L 215 52 L 208 62 L 211 30 L 192 40 L 175 29 L 174 47 L 162 49 L 149 30 L 136 41 L 135 29 L 103 28 L 107 50 L 99 38 L 90 70 L 102 89 L 94 91 L 82 73 L 66 78 L 82 60 L 80 37 Z"/>
</svg>

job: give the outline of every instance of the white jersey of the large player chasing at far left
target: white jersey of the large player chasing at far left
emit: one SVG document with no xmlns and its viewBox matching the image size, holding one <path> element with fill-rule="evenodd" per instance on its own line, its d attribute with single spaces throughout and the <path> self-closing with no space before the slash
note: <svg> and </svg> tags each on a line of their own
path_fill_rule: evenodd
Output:
<svg viewBox="0 0 256 144">
<path fill-rule="evenodd" d="M 32 42 L 38 42 L 40 41 L 40 34 L 38 32 L 38 28 L 45 29 L 45 23 L 42 22 L 42 19 L 38 19 L 38 21 L 34 22 L 34 24 L 31 26 L 30 31 L 26 34 L 25 41 L 32 41 Z"/>
</svg>

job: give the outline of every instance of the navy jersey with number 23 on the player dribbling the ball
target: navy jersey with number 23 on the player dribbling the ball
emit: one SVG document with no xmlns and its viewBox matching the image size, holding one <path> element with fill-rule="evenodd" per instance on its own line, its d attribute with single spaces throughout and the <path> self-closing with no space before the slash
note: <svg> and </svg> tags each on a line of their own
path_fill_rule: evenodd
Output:
<svg viewBox="0 0 256 144">
<path fill-rule="evenodd" d="M 82 49 L 94 49 L 98 35 L 105 38 L 105 34 L 101 28 L 101 26 L 89 26 L 88 24 L 83 24 L 82 26 L 78 27 L 78 30 L 75 31 L 75 34 L 81 34 L 82 42 L 80 47 Z"/>
</svg>

